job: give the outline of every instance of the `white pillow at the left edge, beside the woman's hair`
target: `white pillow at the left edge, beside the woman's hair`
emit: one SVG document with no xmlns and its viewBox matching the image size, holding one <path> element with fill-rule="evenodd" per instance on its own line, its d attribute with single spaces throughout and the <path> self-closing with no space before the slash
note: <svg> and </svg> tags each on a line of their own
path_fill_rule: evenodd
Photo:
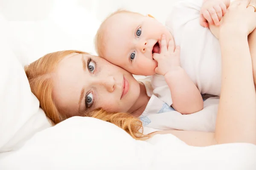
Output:
<svg viewBox="0 0 256 170">
<path fill-rule="evenodd" d="M 36 132 L 51 124 L 39 109 L 23 66 L 9 45 L 7 21 L 0 15 L 0 153 L 22 146 Z"/>
</svg>

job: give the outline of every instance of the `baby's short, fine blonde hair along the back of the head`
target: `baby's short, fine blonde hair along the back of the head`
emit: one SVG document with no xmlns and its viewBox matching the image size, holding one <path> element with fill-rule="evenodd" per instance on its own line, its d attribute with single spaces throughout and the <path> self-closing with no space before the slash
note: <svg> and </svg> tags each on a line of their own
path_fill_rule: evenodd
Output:
<svg viewBox="0 0 256 170">
<path fill-rule="evenodd" d="M 96 53 L 99 55 L 99 57 L 104 57 L 104 52 L 105 52 L 104 35 L 105 35 L 105 26 L 107 25 L 108 19 L 113 17 L 114 15 L 120 14 L 120 13 L 130 13 L 130 14 L 142 15 L 137 12 L 132 12 L 132 11 L 124 10 L 124 9 L 118 9 L 117 11 L 111 13 L 108 17 L 106 17 L 105 20 L 99 26 L 99 29 L 98 29 L 95 39 L 94 39 L 95 50 L 96 50 Z"/>
</svg>

